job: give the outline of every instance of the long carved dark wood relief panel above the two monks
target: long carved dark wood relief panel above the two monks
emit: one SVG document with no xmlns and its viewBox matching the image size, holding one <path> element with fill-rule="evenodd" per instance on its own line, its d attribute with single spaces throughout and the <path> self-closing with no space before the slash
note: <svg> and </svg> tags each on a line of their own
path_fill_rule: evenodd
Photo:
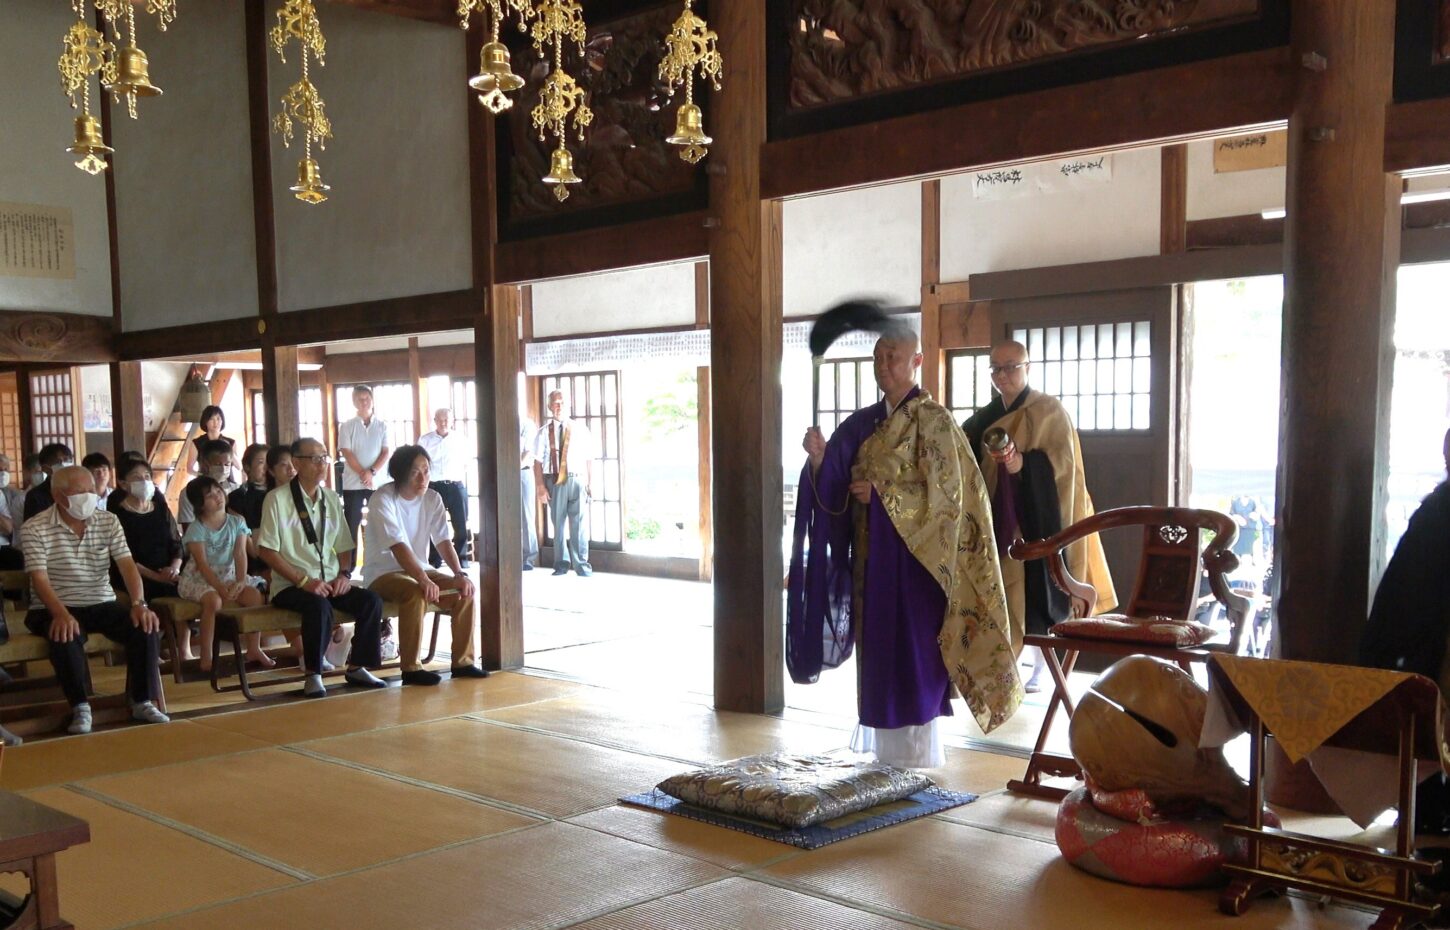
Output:
<svg viewBox="0 0 1450 930">
<path fill-rule="evenodd" d="M 1259 0 L 790 3 L 789 103 L 793 109 L 1217 25 L 1259 12 Z"/>
</svg>

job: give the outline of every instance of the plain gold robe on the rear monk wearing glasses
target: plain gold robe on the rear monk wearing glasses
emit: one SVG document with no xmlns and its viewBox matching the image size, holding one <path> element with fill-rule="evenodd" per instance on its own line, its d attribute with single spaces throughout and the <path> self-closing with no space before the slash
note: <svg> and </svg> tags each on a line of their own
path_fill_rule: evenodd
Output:
<svg viewBox="0 0 1450 930">
<path fill-rule="evenodd" d="M 1079 519 L 1093 515 L 1092 498 L 1083 477 L 1083 450 L 1077 441 L 1077 429 L 1057 398 L 1034 390 L 1019 408 L 999 418 L 992 427 L 1006 429 L 1019 453 L 1043 451 L 1053 464 L 1053 480 L 1057 485 L 1057 505 L 1061 509 L 1063 530 Z M 987 495 L 996 495 L 996 460 L 982 456 L 982 477 Z M 1102 614 L 1118 606 L 1118 592 L 1114 590 L 1108 573 L 1108 559 L 1102 551 L 1102 540 L 1092 534 L 1067 547 L 1067 572 L 1077 580 L 1098 590 L 1095 612 Z M 1027 633 L 1027 589 L 1024 567 L 1016 559 L 1002 559 L 1002 582 L 1006 586 L 1008 614 L 1012 618 L 1012 644 L 1021 650 Z"/>
</svg>

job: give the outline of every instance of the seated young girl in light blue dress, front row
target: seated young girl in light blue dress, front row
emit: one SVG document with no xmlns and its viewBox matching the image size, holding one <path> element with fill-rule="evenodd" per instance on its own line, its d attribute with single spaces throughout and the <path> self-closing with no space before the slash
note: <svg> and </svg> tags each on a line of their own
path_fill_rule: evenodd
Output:
<svg viewBox="0 0 1450 930">
<path fill-rule="evenodd" d="M 187 601 L 202 605 L 202 670 L 210 672 L 216 612 L 223 604 L 261 606 L 264 601 L 258 586 L 262 580 L 246 573 L 246 537 L 251 530 L 241 517 L 226 512 L 226 493 L 220 483 L 207 476 L 194 477 L 186 486 L 186 496 L 196 511 L 196 522 L 181 537 L 191 560 L 183 569 L 177 589 Z M 181 641 L 187 643 L 181 659 L 191 659 L 188 640 Z M 262 651 L 258 633 L 246 637 L 246 662 L 268 669 L 277 664 Z"/>
</svg>

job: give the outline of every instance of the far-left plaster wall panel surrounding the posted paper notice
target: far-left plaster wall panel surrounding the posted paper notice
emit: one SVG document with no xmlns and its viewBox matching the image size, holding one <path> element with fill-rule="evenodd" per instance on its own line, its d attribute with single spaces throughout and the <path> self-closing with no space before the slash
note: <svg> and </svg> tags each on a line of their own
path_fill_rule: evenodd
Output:
<svg viewBox="0 0 1450 930">
<path fill-rule="evenodd" d="M 75 112 L 55 59 L 74 22 L 68 3 L 0 3 L 0 200 L 68 207 L 75 223 L 75 279 L 0 277 L 0 309 L 110 316 L 106 180 L 75 168 L 65 151 Z M 91 112 L 100 87 L 91 83 Z"/>
</svg>

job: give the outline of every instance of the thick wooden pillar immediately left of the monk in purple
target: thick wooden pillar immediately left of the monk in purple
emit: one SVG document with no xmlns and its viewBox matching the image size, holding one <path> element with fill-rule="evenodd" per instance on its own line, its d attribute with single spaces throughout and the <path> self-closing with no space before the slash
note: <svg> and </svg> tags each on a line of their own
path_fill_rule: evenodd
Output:
<svg viewBox="0 0 1450 930">
<path fill-rule="evenodd" d="M 710 7 L 731 80 L 706 103 L 710 151 L 710 418 L 715 535 L 715 707 L 784 705 L 780 559 L 780 203 L 761 200 L 766 4 Z"/>
</svg>

